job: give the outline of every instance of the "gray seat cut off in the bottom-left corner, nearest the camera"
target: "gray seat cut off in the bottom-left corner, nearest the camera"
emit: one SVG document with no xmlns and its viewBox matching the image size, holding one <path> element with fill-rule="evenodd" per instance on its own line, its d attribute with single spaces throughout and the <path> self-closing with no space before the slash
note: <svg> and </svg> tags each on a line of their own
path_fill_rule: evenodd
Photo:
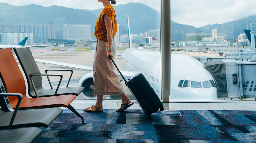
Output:
<svg viewBox="0 0 256 143">
<path fill-rule="evenodd" d="M 36 127 L 0 130 L 0 141 L 3 143 L 31 143 L 43 132 Z"/>
</svg>

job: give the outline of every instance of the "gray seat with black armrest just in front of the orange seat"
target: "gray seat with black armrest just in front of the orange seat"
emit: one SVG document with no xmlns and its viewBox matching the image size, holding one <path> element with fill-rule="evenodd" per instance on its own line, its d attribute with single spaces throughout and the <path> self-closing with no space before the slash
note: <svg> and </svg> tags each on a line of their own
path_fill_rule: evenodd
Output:
<svg viewBox="0 0 256 143">
<path fill-rule="evenodd" d="M 0 96 L 16 96 L 19 98 L 14 112 L 5 112 L 0 109 L 0 129 L 48 127 L 63 111 L 60 108 L 46 108 L 18 112 L 23 97 L 22 94 L 0 93 Z"/>
</svg>

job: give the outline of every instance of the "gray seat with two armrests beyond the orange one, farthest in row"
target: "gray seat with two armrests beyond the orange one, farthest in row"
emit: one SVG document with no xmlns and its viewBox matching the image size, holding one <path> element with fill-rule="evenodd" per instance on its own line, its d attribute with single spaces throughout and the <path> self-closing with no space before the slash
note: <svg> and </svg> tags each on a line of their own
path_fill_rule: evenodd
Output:
<svg viewBox="0 0 256 143">
<path fill-rule="evenodd" d="M 27 48 L 13 48 L 16 56 L 18 57 L 18 60 L 20 62 L 20 65 L 25 73 L 27 82 L 28 82 L 28 94 L 30 97 L 36 97 L 36 92 L 38 94 L 38 97 L 47 97 L 47 96 L 53 96 L 53 95 L 66 95 L 66 94 L 73 94 L 73 95 L 79 95 L 83 90 L 84 87 L 68 87 L 69 81 L 71 79 L 73 70 L 53 70 L 53 71 L 71 71 L 71 75 L 68 81 L 68 84 L 66 88 L 59 88 L 59 85 L 56 89 L 53 89 L 51 82 L 48 78 L 49 84 L 52 89 L 44 89 L 42 87 L 42 77 L 41 76 L 46 76 L 47 71 L 51 70 L 46 70 L 46 74 L 41 74 L 40 70 L 37 67 L 37 64 L 30 52 L 30 49 Z M 32 75 L 31 75 L 32 74 Z M 62 75 L 53 75 L 53 74 L 47 74 L 49 76 L 62 76 Z M 32 82 L 34 83 L 34 88 L 30 79 L 30 76 L 32 76 Z M 62 77 L 61 77 L 62 79 Z"/>
</svg>

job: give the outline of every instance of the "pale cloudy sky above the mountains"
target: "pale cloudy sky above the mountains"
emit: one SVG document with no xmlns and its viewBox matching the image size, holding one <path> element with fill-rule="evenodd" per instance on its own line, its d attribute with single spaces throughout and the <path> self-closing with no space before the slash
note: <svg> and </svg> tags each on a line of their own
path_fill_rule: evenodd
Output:
<svg viewBox="0 0 256 143">
<path fill-rule="evenodd" d="M 0 0 L 15 6 L 52 5 L 74 9 L 99 9 L 102 3 L 97 0 Z M 140 2 L 160 11 L 160 0 L 116 0 L 116 5 Z M 222 24 L 229 21 L 256 15 L 255 0 L 171 0 L 171 19 L 179 24 L 202 27 L 208 24 Z M 255 22 L 256 23 L 256 22 Z"/>
</svg>

